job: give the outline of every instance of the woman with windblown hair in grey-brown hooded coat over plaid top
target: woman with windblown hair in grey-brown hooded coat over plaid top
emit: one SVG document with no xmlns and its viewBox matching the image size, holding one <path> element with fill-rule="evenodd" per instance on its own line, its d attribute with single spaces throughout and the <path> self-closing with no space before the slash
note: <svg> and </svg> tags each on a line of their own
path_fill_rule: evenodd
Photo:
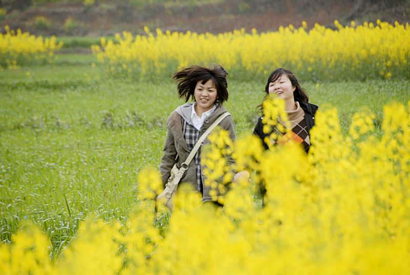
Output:
<svg viewBox="0 0 410 275">
<path fill-rule="evenodd" d="M 168 117 L 168 135 L 159 167 L 164 187 L 173 166 L 177 164 L 177 169 L 187 166 L 185 161 L 200 136 L 219 116 L 227 113 L 227 109 L 222 105 L 228 100 L 227 74 L 219 65 L 212 69 L 194 65 L 174 74 L 173 78 L 178 82 L 179 98 L 187 102 L 192 98 L 195 102 L 179 106 Z M 231 140 L 235 140 L 234 123 L 230 115 L 224 117 L 219 125 L 229 132 Z M 215 193 L 214 190 L 204 184 L 206 176 L 201 165 L 201 148 L 207 144 L 210 144 L 208 138 L 201 143 L 193 161 L 186 167 L 181 182 L 189 183 L 194 190 L 201 193 L 203 202 L 217 202 L 223 192 L 216 190 L 216 195 L 211 195 Z M 229 159 L 228 164 L 232 163 L 232 159 Z"/>
</svg>

